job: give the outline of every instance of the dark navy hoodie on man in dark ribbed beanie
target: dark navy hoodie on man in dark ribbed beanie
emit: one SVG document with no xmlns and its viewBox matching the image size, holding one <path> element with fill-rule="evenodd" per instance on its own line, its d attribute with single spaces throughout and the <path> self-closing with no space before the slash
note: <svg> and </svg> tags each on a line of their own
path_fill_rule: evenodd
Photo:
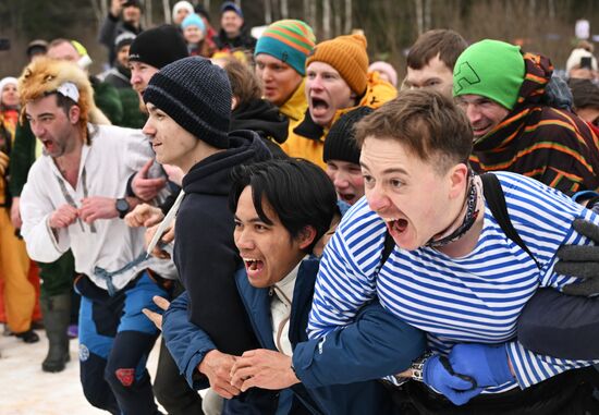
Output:
<svg viewBox="0 0 599 415">
<path fill-rule="evenodd" d="M 222 353 L 241 355 L 259 347 L 235 286 L 242 266 L 229 210 L 231 170 L 269 159 L 250 131 L 229 134 L 230 147 L 195 164 L 183 179 L 185 198 L 175 222 L 174 261 L 190 295 L 190 321 L 208 333 Z"/>
</svg>

